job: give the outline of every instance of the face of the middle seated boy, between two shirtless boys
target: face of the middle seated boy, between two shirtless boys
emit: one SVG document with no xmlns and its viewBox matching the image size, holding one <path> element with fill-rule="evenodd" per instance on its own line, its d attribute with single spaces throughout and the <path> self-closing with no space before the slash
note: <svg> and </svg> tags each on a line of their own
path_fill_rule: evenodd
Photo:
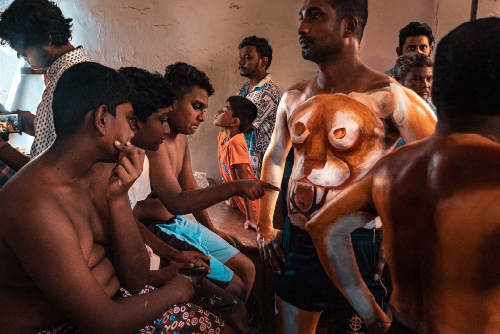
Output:
<svg viewBox="0 0 500 334">
<path fill-rule="evenodd" d="M 144 123 L 137 121 L 134 128 L 135 137 L 132 144 L 148 151 L 156 151 L 165 137 L 170 133 L 168 126 L 168 115 L 172 107 L 160 108 Z"/>
</svg>

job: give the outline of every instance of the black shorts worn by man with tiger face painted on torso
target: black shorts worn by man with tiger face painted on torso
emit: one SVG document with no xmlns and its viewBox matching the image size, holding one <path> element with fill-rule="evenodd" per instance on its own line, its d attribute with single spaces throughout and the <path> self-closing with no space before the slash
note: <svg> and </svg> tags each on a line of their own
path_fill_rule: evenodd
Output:
<svg viewBox="0 0 500 334">
<path fill-rule="evenodd" d="M 359 228 L 351 233 L 352 248 L 359 272 L 380 307 L 386 311 L 389 297 L 385 278 L 372 279 L 378 247 L 382 241 L 380 229 Z M 307 311 L 327 310 L 329 325 L 335 332 L 366 332 L 364 322 L 347 299 L 326 275 L 309 234 L 291 225 L 285 218 L 281 246 L 285 263 L 281 275 L 275 275 L 274 291 L 282 300 Z"/>
</svg>

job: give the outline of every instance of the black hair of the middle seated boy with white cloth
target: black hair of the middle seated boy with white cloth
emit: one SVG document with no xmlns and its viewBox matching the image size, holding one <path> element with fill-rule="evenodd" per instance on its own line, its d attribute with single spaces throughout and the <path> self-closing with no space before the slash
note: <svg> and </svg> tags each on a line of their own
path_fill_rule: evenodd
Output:
<svg viewBox="0 0 500 334">
<path fill-rule="evenodd" d="M 135 91 L 133 115 L 146 123 L 149 116 L 160 108 L 173 104 L 175 94 L 165 78 L 158 72 L 151 73 L 136 67 L 122 67 L 118 73 L 124 76 Z"/>
</svg>

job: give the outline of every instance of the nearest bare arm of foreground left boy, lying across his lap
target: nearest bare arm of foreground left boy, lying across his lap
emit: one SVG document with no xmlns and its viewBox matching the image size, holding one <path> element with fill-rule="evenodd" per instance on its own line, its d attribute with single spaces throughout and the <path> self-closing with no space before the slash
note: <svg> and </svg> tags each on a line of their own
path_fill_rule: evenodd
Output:
<svg viewBox="0 0 500 334">
<path fill-rule="evenodd" d="M 88 332 L 132 332 L 181 301 L 175 299 L 182 296 L 166 289 L 124 298 L 129 299 L 126 301 L 112 300 L 82 253 L 80 242 L 92 243 L 91 235 L 81 236 L 86 233 L 83 228 L 78 239 L 63 210 L 55 205 L 42 206 L 4 216 L 10 226 L 3 228 L 1 235 L 41 292 L 79 328 Z"/>
</svg>

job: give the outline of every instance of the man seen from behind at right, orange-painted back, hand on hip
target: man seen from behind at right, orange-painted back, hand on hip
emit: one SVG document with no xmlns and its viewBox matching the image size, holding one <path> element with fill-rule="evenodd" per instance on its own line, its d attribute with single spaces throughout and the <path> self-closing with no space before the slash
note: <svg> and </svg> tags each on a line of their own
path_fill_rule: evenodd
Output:
<svg viewBox="0 0 500 334">
<path fill-rule="evenodd" d="M 434 135 L 381 159 L 306 224 L 364 321 L 386 319 L 359 276 L 349 233 L 380 215 L 393 283 L 389 332 L 498 332 L 498 59 L 498 18 L 446 35 L 434 62 Z"/>
</svg>

